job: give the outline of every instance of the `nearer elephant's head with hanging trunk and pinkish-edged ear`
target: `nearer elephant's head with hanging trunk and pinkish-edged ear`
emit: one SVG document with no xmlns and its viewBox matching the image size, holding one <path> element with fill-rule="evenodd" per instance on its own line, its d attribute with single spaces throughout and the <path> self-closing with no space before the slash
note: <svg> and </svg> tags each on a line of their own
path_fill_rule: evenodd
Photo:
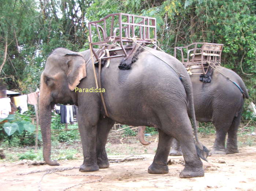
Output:
<svg viewBox="0 0 256 191">
<path fill-rule="evenodd" d="M 85 59 L 79 53 L 57 48 L 49 55 L 41 74 L 39 120 L 43 140 L 43 156 L 49 165 L 59 165 L 51 160 L 51 110 L 56 103 L 77 102 L 75 87 L 86 76 Z"/>
</svg>

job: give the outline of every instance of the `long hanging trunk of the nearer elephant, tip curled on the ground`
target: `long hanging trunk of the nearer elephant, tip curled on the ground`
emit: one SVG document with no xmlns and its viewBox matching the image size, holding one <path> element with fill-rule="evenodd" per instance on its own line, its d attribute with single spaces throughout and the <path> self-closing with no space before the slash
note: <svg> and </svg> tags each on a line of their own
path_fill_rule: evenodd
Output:
<svg viewBox="0 0 256 191">
<path fill-rule="evenodd" d="M 49 94 L 50 95 L 50 94 Z M 43 141 L 43 156 L 46 164 L 60 165 L 56 160 L 51 160 L 51 102 L 50 96 L 40 93 L 39 97 L 39 123 Z"/>
</svg>

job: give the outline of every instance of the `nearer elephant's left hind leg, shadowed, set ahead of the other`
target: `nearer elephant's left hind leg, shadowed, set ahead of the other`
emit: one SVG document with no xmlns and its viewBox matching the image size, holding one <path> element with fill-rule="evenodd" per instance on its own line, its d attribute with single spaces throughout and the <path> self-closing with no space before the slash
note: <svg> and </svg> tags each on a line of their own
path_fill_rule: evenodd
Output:
<svg viewBox="0 0 256 191">
<path fill-rule="evenodd" d="M 159 142 L 153 163 L 148 167 L 150 174 L 167 174 L 169 172 L 167 159 L 171 147 L 171 136 L 159 129 Z"/>
</svg>

